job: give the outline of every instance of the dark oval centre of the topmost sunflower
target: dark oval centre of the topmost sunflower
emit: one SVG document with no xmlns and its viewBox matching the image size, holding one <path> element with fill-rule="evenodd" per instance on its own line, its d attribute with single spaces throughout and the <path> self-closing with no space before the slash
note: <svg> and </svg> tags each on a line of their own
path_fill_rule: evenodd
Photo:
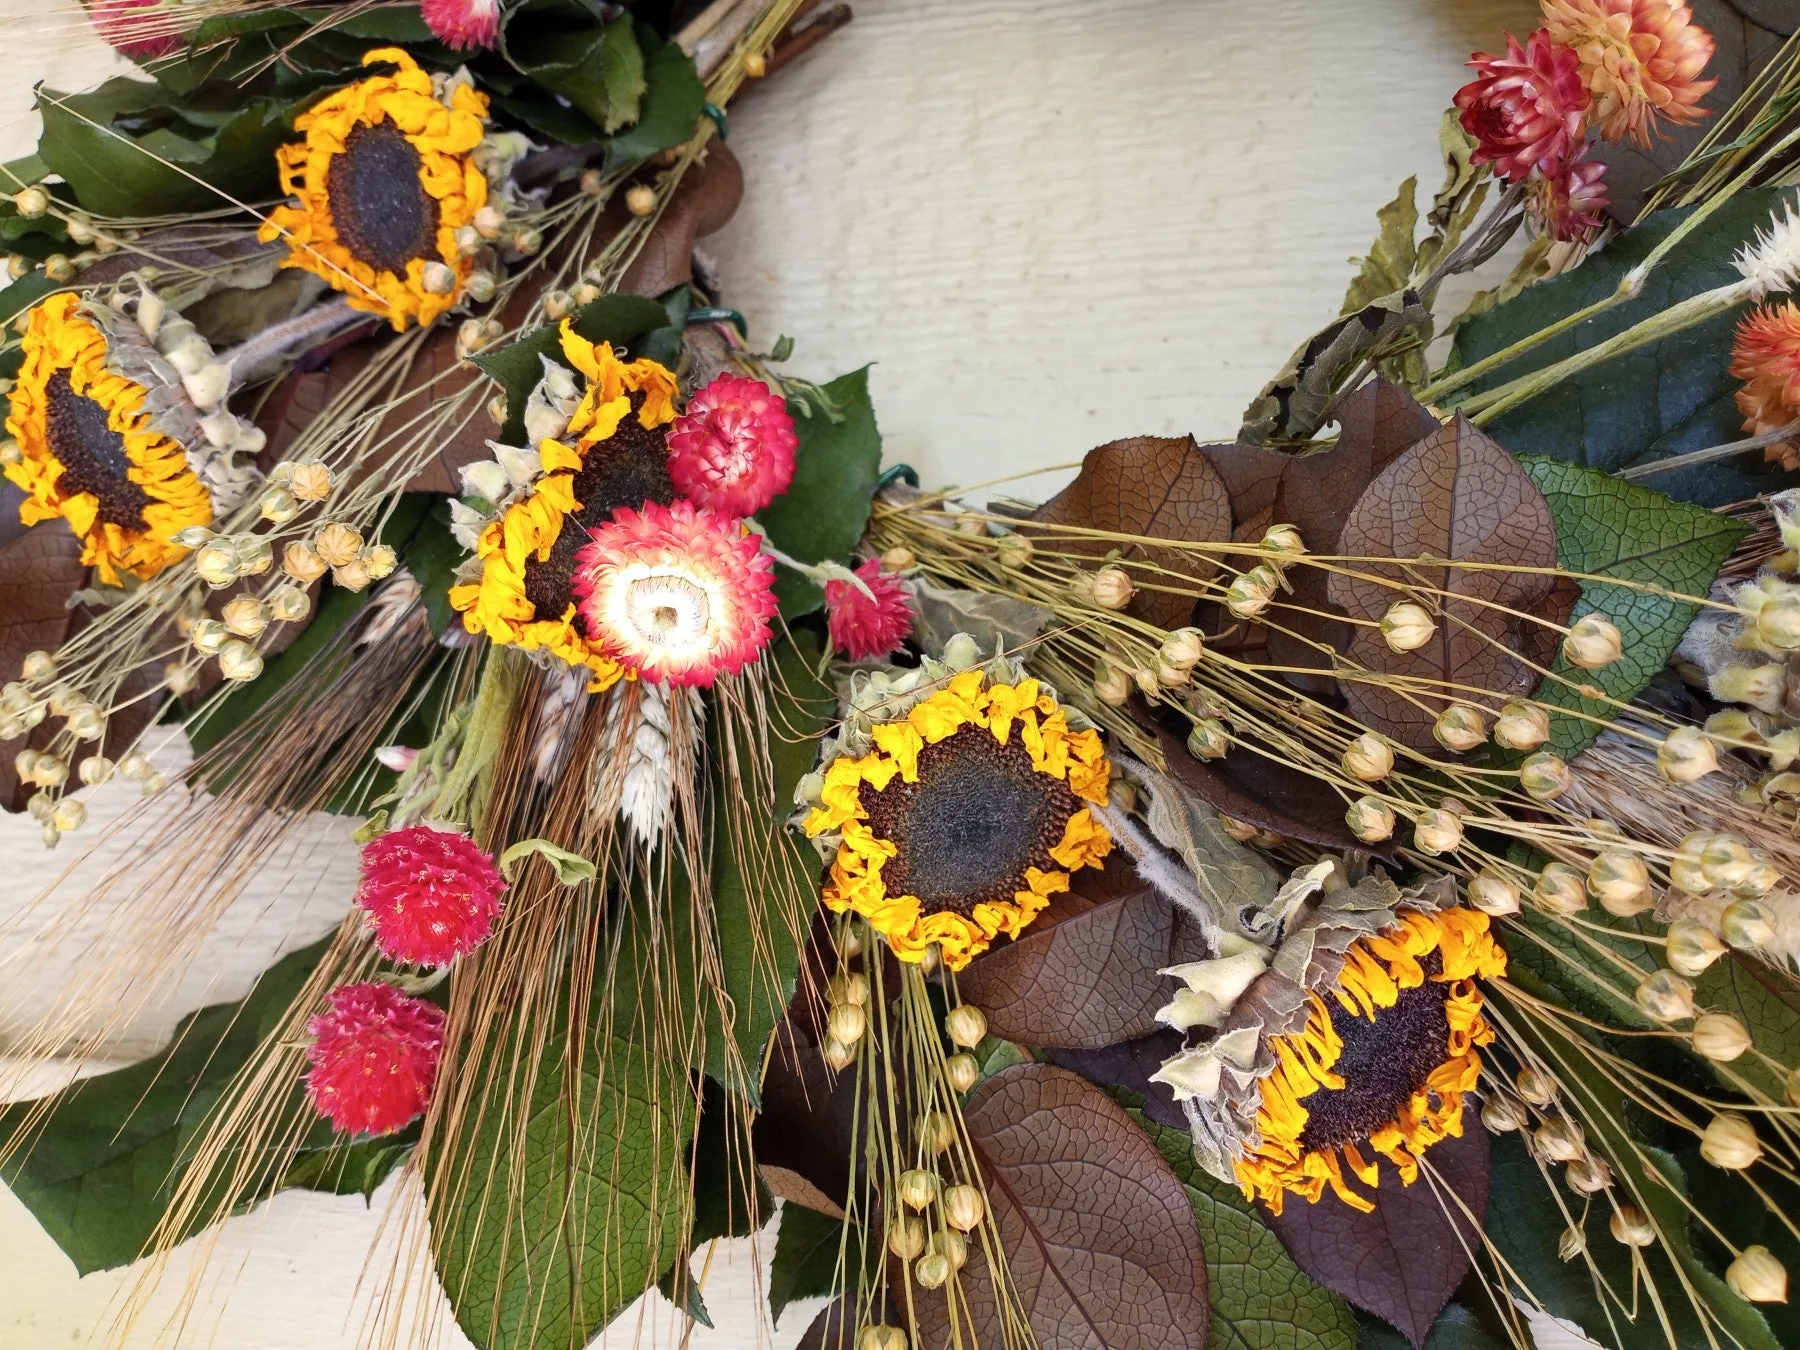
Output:
<svg viewBox="0 0 1800 1350">
<path fill-rule="evenodd" d="M 405 272 L 437 256 L 437 198 L 419 182 L 419 151 L 389 121 L 356 126 L 331 157 L 331 225 L 358 263 Z"/>
</svg>

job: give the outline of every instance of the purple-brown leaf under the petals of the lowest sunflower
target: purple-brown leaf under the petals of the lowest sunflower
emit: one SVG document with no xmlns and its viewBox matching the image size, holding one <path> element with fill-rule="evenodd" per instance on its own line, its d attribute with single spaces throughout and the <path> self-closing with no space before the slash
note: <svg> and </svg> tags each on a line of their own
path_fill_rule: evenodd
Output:
<svg viewBox="0 0 1800 1350">
<path fill-rule="evenodd" d="M 1435 1181 L 1449 1193 L 1440 1197 Z M 1289 1197 L 1280 1217 L 1264 1217 L 1301 1271 L 1422 1346 L 1469 1273 L 1487 1217 L 1487 1130 L 1472 1111 L 1460 1138 L 1431 1147 L 1411 1186 L 1382 1159 L 1373 1201 L 1375 1211 L 1361 1213 L 1327 1190 L 1318 1204 Z"/>
</svg>

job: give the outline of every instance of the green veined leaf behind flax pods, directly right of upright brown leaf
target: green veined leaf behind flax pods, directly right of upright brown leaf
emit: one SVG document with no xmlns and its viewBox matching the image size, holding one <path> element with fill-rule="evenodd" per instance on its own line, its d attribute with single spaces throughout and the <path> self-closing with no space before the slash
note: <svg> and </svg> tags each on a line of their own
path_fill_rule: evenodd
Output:
<svg viewBox="0 0 1800 1350">
<path fill-rule="evenodd" d="M 1705 596 L 1719 565 L 1744 536 L 1746 527 L 1735 520 L 1593 468 L 1541 455 L 1525 455 L 1519 463 L 1550 502 L 1557 526 L 1557 563 L 1570 572 Z M 1604 614 L 1625 639 L 1625 653 L 1600 670 L 1580 670 L 1557 653 L 1552 671 L 1570 684 L 1546 679 L 1537 688 L 1537 700 L 1598 720 L 1552 716 L 1546 749 L 1573 760 L 1609 720 L 1606 700 L 1586 698 L 1571 686 L 1595 684 L 1611 698 L 1631 700 L 1674 653 L 1697 610 L 1699 605 L 1669 596 L 1582 581 L 1580 603 L 1570 621 Z"/>
</svg>

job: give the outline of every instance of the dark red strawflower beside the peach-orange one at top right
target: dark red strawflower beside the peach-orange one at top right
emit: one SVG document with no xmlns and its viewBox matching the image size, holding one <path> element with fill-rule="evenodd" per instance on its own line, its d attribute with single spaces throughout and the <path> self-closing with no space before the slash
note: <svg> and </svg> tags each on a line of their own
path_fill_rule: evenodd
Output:
<svg viewBox="0 0 1800 1350">
<path fill-rule="evenodd" d="M 1476 79 L 1456 90 L 1463 131 L 1476 139 L 1476 164 L 1519 182 L 1532 169 L 1553 175 L 1582 140 L 1588 86 L 1575 52 L 1537 29 L 1525 45 L 1507 34 L 1507 54 L 1476 52 Z"/>
</svg>

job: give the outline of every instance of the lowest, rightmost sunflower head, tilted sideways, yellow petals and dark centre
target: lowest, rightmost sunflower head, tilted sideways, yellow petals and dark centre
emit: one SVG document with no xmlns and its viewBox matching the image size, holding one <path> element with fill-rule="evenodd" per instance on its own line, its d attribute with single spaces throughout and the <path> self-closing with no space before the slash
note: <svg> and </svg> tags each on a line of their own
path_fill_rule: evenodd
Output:
<svg viewBox="0 0 1800 1350">
<path fill-rule="evenodd" d="M 1307 994 L 1305 1026 L 1269 1039 L 1276 1064 L 1258 1084 L 1260 1139 L 1237 1161 L 1246 1199 L 1280 1213 L 1289 1193 L 1318 1201 L 1330 1186 L 1373 1210 L 1345 1179 L 1348 1168 L 1366 1186 L 1379 1181 L 1363 1139 L 1413 1184 L 1418 1154 L 1462 1134 L 1478 1048 L 1494 1040 L 1476 979 L 1505 972 L 1507 954 L 1474 909 L 1402 909 L 1354 941 L 1336 981 Z M 1350 1055 L 1346 1039 L 1357 1042 Z"/>
</svg>

